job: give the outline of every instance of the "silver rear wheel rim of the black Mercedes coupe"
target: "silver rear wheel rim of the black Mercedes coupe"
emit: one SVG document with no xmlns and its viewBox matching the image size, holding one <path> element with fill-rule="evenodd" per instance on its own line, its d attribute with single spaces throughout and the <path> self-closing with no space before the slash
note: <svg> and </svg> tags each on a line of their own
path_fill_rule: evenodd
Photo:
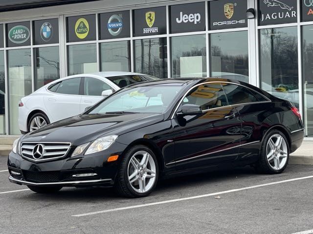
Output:
<svg viewBox="0 0 313 234">
<path fill-rule="evenodd" d="M 266 148 L 269 166 L 274 170 L 282 169 L 288 159 L 288 146 L 280 134 L 274 134 L 268 139 Z"/>
</svg>

